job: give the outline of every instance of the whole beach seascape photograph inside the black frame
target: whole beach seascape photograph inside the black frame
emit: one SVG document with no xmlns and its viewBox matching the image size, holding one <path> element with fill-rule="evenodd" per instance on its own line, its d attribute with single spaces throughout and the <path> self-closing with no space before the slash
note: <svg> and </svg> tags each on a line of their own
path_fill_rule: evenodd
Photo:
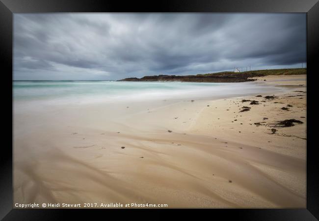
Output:
<svg viewBox="0 0 319 221">
<path fill-rule="evenodd" d="M 15 13 L 13 208 L 306 208 L 306 19 Z"/>
</svg>

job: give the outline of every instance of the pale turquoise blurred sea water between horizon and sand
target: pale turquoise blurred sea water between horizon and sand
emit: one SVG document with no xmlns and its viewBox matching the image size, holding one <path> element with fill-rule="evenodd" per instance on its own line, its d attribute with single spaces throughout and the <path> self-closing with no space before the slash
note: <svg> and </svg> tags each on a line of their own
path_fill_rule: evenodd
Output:
<svg viewBox="0 0 319 221">
<path fill-rule="evenodd" d="M 14 81 L 15 101 L 92 103 L 124 100 L 184 99 L 243 96 L 280 90 L 265 84 L 116 82 L 116 81 Z"/>
</svg>

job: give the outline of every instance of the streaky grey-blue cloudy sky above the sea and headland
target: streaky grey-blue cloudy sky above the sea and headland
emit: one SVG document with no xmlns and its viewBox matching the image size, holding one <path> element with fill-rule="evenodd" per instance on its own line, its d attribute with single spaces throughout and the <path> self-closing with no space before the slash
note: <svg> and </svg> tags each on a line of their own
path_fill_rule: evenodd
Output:
<svg viewBox="0 0 319 221">
<path fill-rule="evenodd" d="M 14 14 L 14 80 L 118 80 L 302 62 L 306 14 Z"/>
</svg>

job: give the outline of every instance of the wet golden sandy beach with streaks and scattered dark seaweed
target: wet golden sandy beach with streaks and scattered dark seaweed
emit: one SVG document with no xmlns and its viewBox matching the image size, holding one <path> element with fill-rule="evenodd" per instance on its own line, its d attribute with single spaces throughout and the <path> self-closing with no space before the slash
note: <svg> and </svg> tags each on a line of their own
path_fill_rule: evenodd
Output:
<svg viewBox="0 0 319 221">
<path fill-rule="evenodd" d="M 253 83 L 284 92 L 15 108 L 14 202 L 305 208 L 306 76 Z"/>
</svg>

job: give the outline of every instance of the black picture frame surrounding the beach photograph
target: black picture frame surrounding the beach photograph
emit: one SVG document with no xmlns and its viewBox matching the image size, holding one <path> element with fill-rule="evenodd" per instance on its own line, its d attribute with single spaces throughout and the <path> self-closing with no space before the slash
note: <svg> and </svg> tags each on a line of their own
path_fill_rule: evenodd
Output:
<svg viewBox="0 0 319 221">
<path fill-rule="evenodd" d="M 306 209 L 179 209 L 190 218 L 195 213 L 211 219 L 310 221 L 319 219 L 319 164 L 316 145 L 316 68 L 319 53 L 319 2 L 318 0 L 170 0 L 170 1 L 121 1 L 121 0 L 0 0 L 0 61 L 3 118 L 12 114 L 12 37 L 13 13 L 46 12 L 300 12 L 307 13 L 307 208 Z M 3 220 L 64 220 L 65 215 L 85 218 L 87 213 L 134 216 L 139 219 L 167 219 L 166 212 L 173 209 L 13 209 L 12 192 L 12 121 L 3 125 L 6 140 L 1 148 L 0 161 L 0 219 Z M 150 214 L 152 213 L 152 215 Z M 92 219 L 92 215 L 89 215 Z M 196 215 L 198 216 L 198 215 Z M 131 218 L 132 218 L 131 217 Z M 74 217 L 73 217 L 74 218 Z M 168 217 L 169 218 L 169 217 Z M 317 219 L 316 219 L 317 218 Z M 93 218 L 94 219 L 94 218 Z M 201 219 L 201 218 L 199 218 Z M 206 219 L 206 218 L 205 218 Z M 219 219 L 218 219 L 219 220 Z"/>
</svg>

